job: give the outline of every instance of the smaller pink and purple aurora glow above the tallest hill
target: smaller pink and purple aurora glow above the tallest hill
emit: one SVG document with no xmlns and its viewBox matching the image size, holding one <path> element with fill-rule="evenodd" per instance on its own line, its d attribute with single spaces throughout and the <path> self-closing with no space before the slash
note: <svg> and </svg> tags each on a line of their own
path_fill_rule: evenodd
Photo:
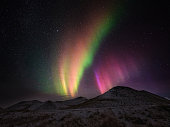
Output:
<svg viewBox="0 0 170 127">
<path fill-rule="evenodd" d="M 94 71 L 100 93 L 133 78 L 139 74 L 138 65 L 131 57 L 117 58 L 109 56 L 96 66 Z"/>
</svg>

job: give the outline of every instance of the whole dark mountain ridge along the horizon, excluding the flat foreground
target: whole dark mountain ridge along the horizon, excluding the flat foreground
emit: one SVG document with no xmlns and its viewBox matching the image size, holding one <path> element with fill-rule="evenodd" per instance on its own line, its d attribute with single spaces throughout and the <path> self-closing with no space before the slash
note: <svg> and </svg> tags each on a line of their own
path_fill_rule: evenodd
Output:
<svg viewBox="0 0 170 127">
<path fill-rule="evenodd" d="M 105 104 L 101 104 L 104 102 Z M 110 103 L 111 102 L 111 103 Z M 95 103 L 95 106 L 93 105 Z M 97 105 L 97 103 L 100 103 Z M 108 103 L 108 104 L 107 104 Z M 36 106 L 35 106 L 35 105 Z M 87 108 L 87 107 L 114 107 L 114 106 L 132 106 L 132 105 L 154 105 L 154 104 L 170 104 L 166 98 L 156 94 L 147 92 L 145 90 L 135 90 L 126 86 L 116 86 L 104 94 L 97 97 L 87 99 L 85 97 L 77 97 L 65 101 L 46 101 L 38 100 L 21 101 L 5 110 L 57 110 L 57 109 L 71 109 L 71 108 Z M 87 106 L 89 105 L 89 106 Z M 51 108 L 50 108 L 51 107 Z"/>
</svg>

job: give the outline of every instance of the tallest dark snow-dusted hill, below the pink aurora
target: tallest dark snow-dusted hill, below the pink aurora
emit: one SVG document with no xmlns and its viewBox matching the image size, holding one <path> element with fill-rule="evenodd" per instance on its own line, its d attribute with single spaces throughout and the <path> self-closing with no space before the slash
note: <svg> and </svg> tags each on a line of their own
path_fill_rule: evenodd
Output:
<svg viewBox="0 0 170 127">
<path fill-rule="evenodd" d="M 170 104 L 170 101 L 147 91 L 117 86 L 106 93 L 69 108 L 102 108 Z"/>
</svg>

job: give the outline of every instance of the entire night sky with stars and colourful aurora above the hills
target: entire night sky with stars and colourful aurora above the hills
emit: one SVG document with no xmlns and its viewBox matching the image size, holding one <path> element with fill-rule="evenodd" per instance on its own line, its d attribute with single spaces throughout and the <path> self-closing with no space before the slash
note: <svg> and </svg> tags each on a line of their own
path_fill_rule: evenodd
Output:
<svg viewBox="0 0 170 127">
<path fill-rule="evenodd" d="M 170 4 L 1 0 L 0 106 L 117 86 L 170 98 Z"/>
</svg>

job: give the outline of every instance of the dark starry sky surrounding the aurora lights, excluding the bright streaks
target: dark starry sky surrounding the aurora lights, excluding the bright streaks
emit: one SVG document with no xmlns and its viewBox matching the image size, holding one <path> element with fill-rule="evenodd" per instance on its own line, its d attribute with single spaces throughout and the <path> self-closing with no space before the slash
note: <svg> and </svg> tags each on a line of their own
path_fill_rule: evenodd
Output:
<svg viewBox="0 0 170 127">
<path fill-rule="evenodd" d="M 77 10 L 81 12 L 83 4 L 90 1 L 0 1 L 0 106 L 27 99 L 61 99 L 54 93 L 42 92 L 39 87 L 43 87 L 41 82 L 51 79 L 52 51 L 68 22 L 79 17 L 81 13 L 76 13 Z M 141 63 L 142 74 L 129 82 L 137 85 L 129 86 L 170 97 L 170 4 L 166 0 L 123 2 L 125 12 L 116 30 L 106 38 L 108 43 L 102 43 L 96 59 L 106 50 L 141 56 L 145 61 Z M 90 84 L 91 77 L 85 77 Z"/>
</svg>

